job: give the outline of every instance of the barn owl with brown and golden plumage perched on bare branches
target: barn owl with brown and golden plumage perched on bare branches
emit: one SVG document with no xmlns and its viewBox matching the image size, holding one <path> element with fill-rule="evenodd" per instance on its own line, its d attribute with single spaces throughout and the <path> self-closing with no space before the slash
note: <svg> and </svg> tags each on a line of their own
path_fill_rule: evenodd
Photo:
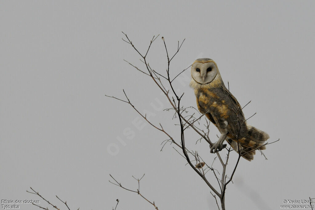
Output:
<svg viewBox="0 0 315 210">
<path fill-rule="evenodd" d="M 226 140 L 246 160 L 253 160 L 255 149 L 266 149 L 264 145 L 269 135 L 253 126 L 247 125 L 242 107 L 225 87 L 215 61 L 209 58 L 197 59 L 192 64 L 192 80 L 197 106 L 202 114 L 215 124 L 221 136 L 210 146 L 210 152 L 221 151 Z"/>
</svg>

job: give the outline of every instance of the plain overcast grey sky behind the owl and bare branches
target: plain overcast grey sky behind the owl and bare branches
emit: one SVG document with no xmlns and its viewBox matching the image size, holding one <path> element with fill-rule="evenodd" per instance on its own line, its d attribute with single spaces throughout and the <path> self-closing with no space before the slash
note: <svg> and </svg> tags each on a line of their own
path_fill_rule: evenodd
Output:
<svg viewBox="0 0 315 210">
<path fill-rule="evenodd" d="M 136 193 L 108 182 L 112 174 L 159 209 L 216 209 L 210 189 L 172 148 L 165 134 L 145 125 L 152 112 L 176 140 L 179 127 L 158 88 L 123 59 L 143 68 L 121 39 L 128 34 L 145 52 L 163 36 L 175 76 L 196 58 L 216 61 L 223 81 L 253 125 L 270 135 L 251 162 L 240 160 L 226 192 L 226 209 L 280 209 L 284 200 L 308 200 L 314 192 L 314 1 L 1 1 L 0 2 L 0 199 L 40 200 L 60 208 L 154 209 Z M 147 56 L 165 74 L 161 38 Z M 186 75 L 186 79 L 185 79 Z M 175 81 L 182 105 L 196 107 L 190 69 Z M 188 78 L 188 79 L 187 79 Z M 158 101 L 162 103 L 159 104 Z M 160 109 L 154 108 L 152 103 Z M 160 106 L 159 106 L 160 105 Z M 142 125 L 142 123 L 139 123 Z M 219 131 L 211 125 L 211 139 Z M 207 162 L 214 155 L 187 132 L 186 146 Z M 109 149 L 109 150 L 108 150 Z M 228 172 L 237 159 L 231 155 Z M 215 165 L 221 171 L 218 162 Z M 216 183 L 209 174 L 209 181 Z M 41 205 L 48 204 L 41 201 Z M 36 209 L 30 204 L 22 209 Z M 39 208 L 38 208 L 39 209 Z"/>
</svg>

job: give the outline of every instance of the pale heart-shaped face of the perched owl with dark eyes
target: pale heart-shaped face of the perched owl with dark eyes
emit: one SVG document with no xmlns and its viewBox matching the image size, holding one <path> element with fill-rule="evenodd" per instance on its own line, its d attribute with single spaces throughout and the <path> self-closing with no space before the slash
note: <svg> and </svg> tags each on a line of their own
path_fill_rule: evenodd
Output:
<svg viewBox="0 0 315 210">
<path fill-rule="evenodd" d="M 194 62 L 192 64 L 192 79 L 201 85 L 212 82 L 217 73 L 218 69 L 212 61 L 207 63 Z"/>
</svg>

